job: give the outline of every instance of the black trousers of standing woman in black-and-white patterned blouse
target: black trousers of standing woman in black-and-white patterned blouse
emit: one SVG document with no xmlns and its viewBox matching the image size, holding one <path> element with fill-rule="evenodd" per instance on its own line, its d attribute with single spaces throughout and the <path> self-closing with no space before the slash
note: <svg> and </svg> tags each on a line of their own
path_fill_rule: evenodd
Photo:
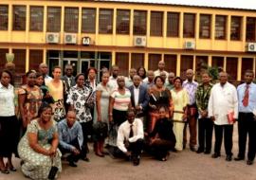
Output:
<svg viewBox="0 0 256 180">
<path fill-rule="evenodd" d="M 93 121 L 90 120 L 88 122 L 82 122 L 82 136 L 83 136 L 83 143 L 82 143 L 82 152 L 81 156 L 85 157 L 87 153 L 89 153 L 89 148 L 88 148 L 88 135 L 91 135 L 92 132 L 92 124 Z"/>
</svg>

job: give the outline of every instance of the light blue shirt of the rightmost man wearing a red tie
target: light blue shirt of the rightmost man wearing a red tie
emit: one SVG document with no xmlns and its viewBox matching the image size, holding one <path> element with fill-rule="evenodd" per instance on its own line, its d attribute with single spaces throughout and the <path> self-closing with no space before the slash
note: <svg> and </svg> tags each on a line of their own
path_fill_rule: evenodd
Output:
<svg viewBox="0 0 256 180">
<path fill-rule="evenodd" d="M 243 113 L 252 113 L 256 109 L 256 84 L 250 83 L 248 87 L 249 96 L 248 96 L 248 105 L 247 107 L 243 104 L 243 99 L 245 97 L 245 92 L 247 89 L 247 83 L 243 83 L 237 87 L 237 96 L 238 96 L 238 110 Z"/>
</svg>

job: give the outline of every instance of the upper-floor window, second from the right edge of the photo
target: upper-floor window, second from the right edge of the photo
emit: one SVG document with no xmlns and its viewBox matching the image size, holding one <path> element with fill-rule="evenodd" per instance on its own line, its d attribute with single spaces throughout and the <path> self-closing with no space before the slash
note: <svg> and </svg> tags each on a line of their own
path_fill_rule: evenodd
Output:
<svg viewBox="0 0 256 180">
<path fill-rule="evenodd" d="M 241 40 L 242 18 L 231 16 L 230 40 Z"/>
</svg>

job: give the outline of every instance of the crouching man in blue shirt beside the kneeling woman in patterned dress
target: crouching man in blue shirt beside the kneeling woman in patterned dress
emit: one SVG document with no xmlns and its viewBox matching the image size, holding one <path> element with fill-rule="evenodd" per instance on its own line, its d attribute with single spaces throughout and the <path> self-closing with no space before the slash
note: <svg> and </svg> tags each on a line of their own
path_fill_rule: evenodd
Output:
<svg viewBox="0 0 256 180">
<path fill-rule="evenodd" d="M 58 123 L 59 133 L 59 148 L 61 152 L 71 153 L 67 156 L 69 166 L 77 167 L 75 162 L 78 162 L 82 150 L 82 126 L 76 121 L 76 113 L 68 111 L 66 119 Z"/>
</svg>

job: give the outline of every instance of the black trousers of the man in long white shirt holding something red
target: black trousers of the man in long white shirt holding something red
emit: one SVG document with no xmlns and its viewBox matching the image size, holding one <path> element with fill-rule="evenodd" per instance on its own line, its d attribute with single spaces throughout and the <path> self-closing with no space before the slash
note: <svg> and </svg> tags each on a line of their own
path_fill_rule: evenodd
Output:
<svg viewBox="0 0 256 180">
<path fill-rule="evenodd" d="M 233 136 L 233 125 L 214 125 L 215 131 L 215 147 L 214 153 L 220 153 L 221 144 L 224 133 L 224 146 L 227 155 L 232 155 L 232 136 Z"/>
</svg>

